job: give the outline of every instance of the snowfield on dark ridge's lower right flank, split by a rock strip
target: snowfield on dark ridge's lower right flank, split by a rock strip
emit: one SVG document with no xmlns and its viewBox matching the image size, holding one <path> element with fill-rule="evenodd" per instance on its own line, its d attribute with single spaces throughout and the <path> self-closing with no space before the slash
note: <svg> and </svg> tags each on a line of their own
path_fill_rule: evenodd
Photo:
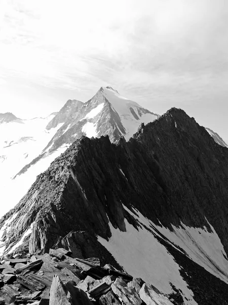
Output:
<svg viewBox="0 0 228 305">
<path fill-rule="evenodd" d="M 173 231 L 156 226 L 137 209 L 134 213 L 123 205 L 134 217 L 140 228 L 135 228 L 125 219 L 126 232 L 115 229 L 109 222 L 111 237 L 106 240 L 98 236 L 98 241 L 124 266 L 134 277 L 140 277 L 151 283 L 165 294 L 173 292 L 172 285 L 182 291 L 184 304 L 195 305 L 194 294 L 180 275 L 180 266 L 159 238 L 197 264 L 204 267 L 220 280 L 228 283 L 227 257 L 222 243 L 213 229 L 193 228 L 182 225 L 173 226 Z M 160 234 L 160 233 L 161 234 Z"/>
</svg>

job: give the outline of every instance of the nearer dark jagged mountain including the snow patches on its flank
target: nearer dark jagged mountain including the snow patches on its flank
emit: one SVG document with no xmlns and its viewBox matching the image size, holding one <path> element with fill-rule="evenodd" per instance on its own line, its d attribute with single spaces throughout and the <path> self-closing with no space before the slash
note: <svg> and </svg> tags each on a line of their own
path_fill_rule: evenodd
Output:
<svg viewBox="0 0 228 305">
<path fill-rule="evenodd" d="M 180 109 L 127 142 L 82 137 L 1 220 L 2 254 L 108 251 L 178 304 L 226 304 L 227 181 L 227 148 Z"/>
</svg>

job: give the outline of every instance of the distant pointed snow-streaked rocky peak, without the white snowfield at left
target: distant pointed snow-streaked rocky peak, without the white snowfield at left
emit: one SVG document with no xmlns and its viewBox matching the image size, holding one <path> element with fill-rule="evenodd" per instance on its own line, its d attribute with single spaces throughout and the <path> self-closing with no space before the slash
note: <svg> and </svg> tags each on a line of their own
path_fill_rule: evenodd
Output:
<svg viewBox="0 0 228 305">
<path fill-rule="evenodd" d="M 26 172 L 31 165 L 56 153 L 57 150 L 60 155 L 67 146 L 83 135 L 89 138 L 108 135 L 112 142 L 122 136 L 128 140 L 141 123 L 147 124 L 156 118 L 158 118 L 158 114 L 124 98 L 117 90 L 109 86 L 101 87 L 96 95 L 85 104 L 69 100 L 64 105 L 48 124 L 47 129 L 55 127 L 57 122 L 64 121 L 63 126 L 59 128 L 42 154 L 22 168 L 18 174 Z"/>
</svg>

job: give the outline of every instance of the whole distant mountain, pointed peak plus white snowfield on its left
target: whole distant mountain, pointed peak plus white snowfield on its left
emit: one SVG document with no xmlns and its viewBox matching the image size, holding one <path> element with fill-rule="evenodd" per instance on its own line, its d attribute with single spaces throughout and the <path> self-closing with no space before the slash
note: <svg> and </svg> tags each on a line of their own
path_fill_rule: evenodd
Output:
<svg viewBox="0 0 228 305">
<path fill-rule="evenodd" d="M 112 142 L 121 136 L 129 139 L 142 122 L 148 123 L 157 117 L 157 114 L 122 97 L 117 90 L 101 87 L 88 102 L 68 100 L 58 113 L 48 118 L 22 120 L 20 127 L 15 121 L 0 125 L 0 131 L 6 135 L 0 153 L 4 161 L 0 165 L 1 195 L 8 202 L 0 216 L 19 202 L 36 176 L 75 140 L 83 135 L 100 137 L 106 134 Z M 9 145 L 5 141 L 11 143 L 10 148 L 5 147 Z M 17 145 L 13 145 L 15 143 Z"/>
</svg>

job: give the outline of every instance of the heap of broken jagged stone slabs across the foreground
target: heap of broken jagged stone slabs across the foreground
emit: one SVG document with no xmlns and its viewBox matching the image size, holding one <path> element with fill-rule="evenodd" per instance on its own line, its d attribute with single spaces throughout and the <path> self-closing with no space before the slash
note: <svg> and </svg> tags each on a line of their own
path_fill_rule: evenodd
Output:
<svg viewBox="0 0 228 305">
<path fill-rule="evenodd" d="M 0 303 L 31 305 L 172 305 L 177 293 L 162 294 L 153 285 L 133 278 L 99 258 L 73 258 L 63 248 L 0 265 Z"/>
</svg>

